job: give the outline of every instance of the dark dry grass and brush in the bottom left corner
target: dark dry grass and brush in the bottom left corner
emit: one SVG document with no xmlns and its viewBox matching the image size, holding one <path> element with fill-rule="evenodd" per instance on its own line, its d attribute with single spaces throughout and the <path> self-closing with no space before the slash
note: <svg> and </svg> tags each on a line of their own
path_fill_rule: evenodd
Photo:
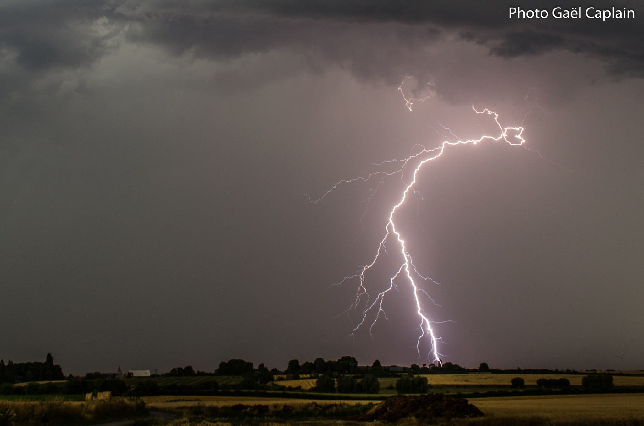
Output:
<svg viewBox="0 0 644 426">
<path fill-rule="evenodd" d="M 41 402 L 0 401 L 0 426 L 58 425 L 106 418 L 145 414 L 145 403 L 138 398 L 113 398 L 87 403 L 62 399 Z"/>
</svg>

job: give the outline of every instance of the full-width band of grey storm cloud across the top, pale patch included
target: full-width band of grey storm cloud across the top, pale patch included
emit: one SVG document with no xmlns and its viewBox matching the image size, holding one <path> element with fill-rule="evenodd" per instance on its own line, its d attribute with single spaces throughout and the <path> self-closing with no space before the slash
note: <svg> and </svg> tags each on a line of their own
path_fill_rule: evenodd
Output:
<svg viewBox="0 0 644 426">
<path fill-rule="evenodd" d="M 93 66 L 123 40 L 193 59 L 286 51 L 303 58 L 292 68 L 318 71 L 334 64 L 387 84 L 412 73 L 440 82 L 439 95 L 453 102 L 460 102 L 462 84 L 444 57 L 459 53 L 426 51 L 438 42 L 482 46 L 505 59 L 567 52 L 574 61 L 580 54 L 601 60 L 610 75 L 643 75 L 644 43 L 635 20 L 508 19 L 509 5 L 469 0 L 13 1 L 0 6 L 0 60 L 5 64 L 0 91 L 24 93 L 49 71 Z M 539 4 L 549 10 L 555 5 Z M 636 6 L 615 3 L 621 5 Z M 580 78 L 575 85 L 595 79 Z"/>
</svg>

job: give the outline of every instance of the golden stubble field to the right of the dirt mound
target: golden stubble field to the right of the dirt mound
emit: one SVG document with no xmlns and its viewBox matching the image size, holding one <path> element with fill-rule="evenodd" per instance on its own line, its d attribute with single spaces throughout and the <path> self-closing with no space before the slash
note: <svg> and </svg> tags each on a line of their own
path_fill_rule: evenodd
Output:
<svg viewBox="0 0 644 426">
<path fill-rule="evenodd" d="M 493 417 L 554 421 L 644 419 L 644 394 L 513 396 L 470 400 Z"/>
</svg>

